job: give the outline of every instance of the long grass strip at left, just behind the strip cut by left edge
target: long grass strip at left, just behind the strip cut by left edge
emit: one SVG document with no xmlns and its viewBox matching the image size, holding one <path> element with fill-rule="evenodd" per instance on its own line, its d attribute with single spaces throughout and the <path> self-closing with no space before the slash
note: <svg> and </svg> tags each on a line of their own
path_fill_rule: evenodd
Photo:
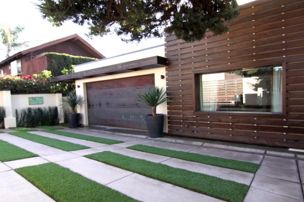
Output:
<svg viewBox="0 0 304 202">
<path fill-rule="evenodd" d="M 55 147 L 57 149 L 62 149 L 64 151 L 74 151 L 74 150 L 90 148 L 90 147 L 87 147 L 84 145 L 74 144 L 71 142 L 66 142 L 66 141 L 57 140 L 57 139 L 48 138 L 48 137 L 43 137 L 40 135 L 35 135 L 35 134 L 27 133 L 27 132 L 14 132 L 14 133 L 9 133 L 9 134 L 20 137 L 20 138 L 24 138 L 27 140 L 31 140 L 33 142 Z"/>
</svg>

